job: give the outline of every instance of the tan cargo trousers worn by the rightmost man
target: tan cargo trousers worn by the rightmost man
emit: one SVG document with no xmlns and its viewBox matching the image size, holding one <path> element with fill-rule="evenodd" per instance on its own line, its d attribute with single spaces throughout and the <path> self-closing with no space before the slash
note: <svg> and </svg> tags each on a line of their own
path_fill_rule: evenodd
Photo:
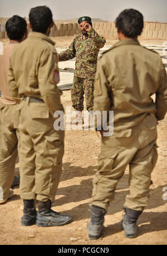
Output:
<svg viewBox="0 0 167 256">
<path fill-rule="evenodd" d="M 107 210 L 114 199 L 116 185 L 129 164 L 129 195 L 124 207 L 144 210 L 148 205 L 151 172 L 158 157 L 156 125 L 155 115 L 148 114 L 132 129 L 102 138 L 90 205 Z"/>
</svg>

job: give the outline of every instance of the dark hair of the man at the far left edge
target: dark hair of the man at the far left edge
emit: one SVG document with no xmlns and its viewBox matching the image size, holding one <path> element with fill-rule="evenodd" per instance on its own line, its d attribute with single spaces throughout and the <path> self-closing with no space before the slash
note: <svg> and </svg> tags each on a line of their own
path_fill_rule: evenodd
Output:
<svg viewBox="0 0 167 256">
<path fill-rule="evenodd" d="M 21 40 L 27 30 L 27 22 L 24 18 L 14 15 L 6 22 L 5 29 L 10 40 Z"/>
</svg>

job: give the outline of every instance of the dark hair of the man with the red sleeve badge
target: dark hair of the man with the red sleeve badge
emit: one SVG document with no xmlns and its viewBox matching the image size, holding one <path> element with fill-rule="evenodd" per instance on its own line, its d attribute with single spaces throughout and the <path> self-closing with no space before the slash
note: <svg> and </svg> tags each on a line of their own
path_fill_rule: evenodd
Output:
<svg viewBox="0 0 167 256">
<path fill-rule="evenodd" d="M 48 27 L 52 23 L 52 12 L 46 6 L 37 6 L 30 10 L 29 20 L 32 31 L 46 33 Z"/>
</svg>

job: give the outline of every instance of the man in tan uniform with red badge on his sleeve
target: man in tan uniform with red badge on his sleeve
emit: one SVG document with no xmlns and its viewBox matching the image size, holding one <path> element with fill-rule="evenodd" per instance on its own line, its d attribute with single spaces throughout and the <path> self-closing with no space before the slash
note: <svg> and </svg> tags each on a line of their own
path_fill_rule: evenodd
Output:
<svg viewBox="0 0 167 256">
<path fill-rule="evenodd" d="M 55 111 L 62 111 L 57 53 L 48 35 L 53 26 L 46 6 L 32 8 L 32 32 L 14 48 L 9 67 L 9 89 L 20 102 L 20 195 L 24 203 L 24 226 L 60 226 L 69 215 L 51 210 L 62 171 L 64 131 L 53 129 Z M 34 200 L 38 203 L 38 212 Z"/>
</svg>

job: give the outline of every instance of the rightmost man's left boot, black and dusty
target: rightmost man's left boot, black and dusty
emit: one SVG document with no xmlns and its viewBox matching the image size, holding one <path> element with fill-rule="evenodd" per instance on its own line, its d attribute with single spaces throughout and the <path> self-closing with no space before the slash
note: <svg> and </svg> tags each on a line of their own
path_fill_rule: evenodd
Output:
<svg viewBox="0 0 167 256">
<path fill-rule="evenodd" d="M 91 220 L 87 226 L 89 238 L 92 240 L 98 239 L 101 236 L 104 224 L 104 215 L 107 211 L 99 206 L 91 205 L 89 206 L 89 212 L 91 215 Z"/>
</svg>

